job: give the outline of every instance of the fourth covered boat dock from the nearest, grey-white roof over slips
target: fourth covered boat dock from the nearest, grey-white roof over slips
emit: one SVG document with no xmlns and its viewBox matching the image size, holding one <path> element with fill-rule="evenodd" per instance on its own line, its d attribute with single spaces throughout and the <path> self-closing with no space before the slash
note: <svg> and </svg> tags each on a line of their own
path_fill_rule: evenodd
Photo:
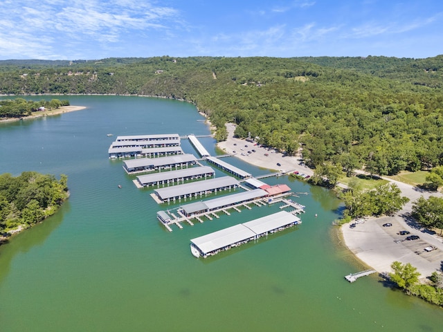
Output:
<svg viewBox="0 0 443 332">
<path fill-rule="evenodd" d="M 177 171 L 160 172 L 155 174 L 139 175 L 137 181 L 143 187 L 150 185 L 164 185 L 169 183 L 178 183 L 186 180 L 195 180 L 199 178 L 208 178 L 215 176 L 215 171 L 209 166 L 191 167 L 178 169 Z M 194 184 L 194 183 L 192 183 Z"/>
</svg>

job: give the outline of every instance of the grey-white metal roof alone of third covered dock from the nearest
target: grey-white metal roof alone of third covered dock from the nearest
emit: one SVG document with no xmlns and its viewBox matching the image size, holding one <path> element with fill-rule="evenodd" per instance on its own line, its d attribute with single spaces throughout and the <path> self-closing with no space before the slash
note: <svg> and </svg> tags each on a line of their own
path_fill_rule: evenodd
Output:
<svg viewBox="0 0 443 332">
<path fill-rule="evenodd" d="M 206 190 L 215 190 L 221 187 L 237 186 L 239 182 L 232 176 L 222 176 L 221 178 L 210 178 L 204 181 L 195 181 L 183 185 L 174 185 L 171 187 L 159 188 L 154 190 L 161 199 L 171 199 L 172 197 L 194 194 L 196 192 L 205 192 Z"/>
</svg>

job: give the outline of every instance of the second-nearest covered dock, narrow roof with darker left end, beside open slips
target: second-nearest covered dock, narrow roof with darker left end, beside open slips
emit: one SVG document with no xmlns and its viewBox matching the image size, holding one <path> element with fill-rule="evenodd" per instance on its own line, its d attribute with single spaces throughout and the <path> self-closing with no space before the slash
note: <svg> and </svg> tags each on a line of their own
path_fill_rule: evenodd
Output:
<svg viewBox="0 0 443 332">
<path fill-rule="evenodd" d="M 213 210 L 229 208 L 233 205 L 247 203 L 249 201 L 260 199 L 266 196 L 268 196 L 268 193 L 264 190 L 249 190 L 247 192 L 238 192 L 236 194 L 217 197 L 216 199 L 209 199 L 208 201 L 200 201 L 181 205 L 179 211 L 185 216 L 192 216 L 193 214 L 202 214 L 206 212 L 211 212 Z"/>
</svg>

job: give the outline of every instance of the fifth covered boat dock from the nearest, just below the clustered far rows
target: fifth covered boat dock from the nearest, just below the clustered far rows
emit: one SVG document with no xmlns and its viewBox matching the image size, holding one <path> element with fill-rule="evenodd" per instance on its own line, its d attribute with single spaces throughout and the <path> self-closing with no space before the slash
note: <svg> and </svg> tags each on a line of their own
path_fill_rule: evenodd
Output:
<svg viewBox="0 0 443 332">
<path fill-rule="evenodd" d="M 123 169 L 127 174 L 134 174 L 162 168 L 189 167 L 195 163 L 197 163 L 197 158 L 193 154 L 179 154 L 177 156 L 125 160 L 123 161 Z"/>
</svg>

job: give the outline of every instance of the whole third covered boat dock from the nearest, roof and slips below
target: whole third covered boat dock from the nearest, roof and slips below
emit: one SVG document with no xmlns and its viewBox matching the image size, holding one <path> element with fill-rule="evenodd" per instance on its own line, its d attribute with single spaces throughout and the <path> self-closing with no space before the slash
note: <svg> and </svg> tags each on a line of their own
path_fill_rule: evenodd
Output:
<svg viewBox="0 0 443 332">
<path fill-rule="evenodd" d="M 156 196 L 161 202 L 175 201 L 176 199 L 191 198 L 192 196 L 203 196 L 210 192 L 219 190 L 230 190 L 239 186 L 239 182 L 232 176 L 222 176 L 220 178 L 211 178 L 209 180 L 184 183 L 154 190 Z"/>
</svg>

